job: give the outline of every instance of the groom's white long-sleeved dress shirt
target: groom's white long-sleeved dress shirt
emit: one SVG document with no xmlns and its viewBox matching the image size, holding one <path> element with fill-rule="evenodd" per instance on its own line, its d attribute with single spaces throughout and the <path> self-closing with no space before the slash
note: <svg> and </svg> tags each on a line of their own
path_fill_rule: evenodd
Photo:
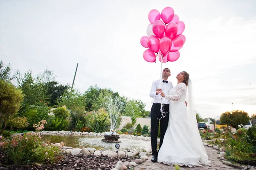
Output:
<svg viewBox="0 0 256 170">
<path fill-rule="evenodd" d="M 159 88 L 159 81 L 161 81 L 161 88 Z M 173 85 L 171 82 L 168 81 L 168 83 L 164 83 L 163 82 L 163 78 L 161 78 L 161 80 L 156 80 L 156 81 L 153 81 L 152 83 L 152 87 L 151 87 L 151 91 L 150 91 L 150 94 L 149 96 L 151 98 L 153 98 L 153 100 L 151 101 L 151 103 L 161 103 L 161 99 L 163 101 L 163 104 L 169 104 L 169 100 L 166 99 L 166 98 L 163 98 L 161 96 L 161 94 L 156 94 L 157 92 L 157 89 L 162 89 L 162 91 L 165 93 L 165 94 L 169 94 L 169 91 L 170 89 L 173 88 Z"/>
</svg>

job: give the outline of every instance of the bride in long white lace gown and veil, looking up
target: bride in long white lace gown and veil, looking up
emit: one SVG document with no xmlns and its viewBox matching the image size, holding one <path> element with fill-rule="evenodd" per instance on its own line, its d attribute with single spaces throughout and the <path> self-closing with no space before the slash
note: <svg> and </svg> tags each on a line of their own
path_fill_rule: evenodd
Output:
<svg viewBox="0 0 256 170">
<path fill-rule="evenodd" d="M 176 78 L 178 84 L 170 90 L 169 94 L 161 92 L 162 97 L 170 100 L 170 115 L 163 144 L 158 152 L 158 162 L 171 166 L 174 164 L 188 167 L 207 165 L 210 162 L 197 127 L 189 74 L 180 72 Z M 186 97 L 188 109 L 185 104 Z"/>
</svg>

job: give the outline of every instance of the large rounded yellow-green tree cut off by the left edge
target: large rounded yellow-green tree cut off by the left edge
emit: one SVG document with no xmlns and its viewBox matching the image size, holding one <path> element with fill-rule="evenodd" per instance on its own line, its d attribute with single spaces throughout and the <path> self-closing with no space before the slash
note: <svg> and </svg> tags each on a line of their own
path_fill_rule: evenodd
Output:
<svg viewBox="0 0 256 170">
<path fill-rule="evenodd" d="M 3 133 L 8 118 L 15 115 L 20 109 L 22 101 L 23 94 L 21 90 L 11 83 L 0 80 L 0 124 L 2 125 L 0 134 Z"/>
</svg>

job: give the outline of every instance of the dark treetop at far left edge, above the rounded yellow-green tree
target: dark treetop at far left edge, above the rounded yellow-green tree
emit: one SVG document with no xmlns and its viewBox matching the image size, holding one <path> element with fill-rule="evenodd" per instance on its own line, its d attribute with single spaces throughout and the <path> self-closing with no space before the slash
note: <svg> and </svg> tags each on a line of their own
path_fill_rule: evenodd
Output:
<svg viewBox="0 0 256 170">
<path fill-rule="evenodd" d="M 11 69 L 10 63 L 6 66 L 3 61 L 0 61 L 0 79 L 7 82 L 16 79 L 19 71 L 17 71 L 14 75 L 11 75 Z"/>
</svg>

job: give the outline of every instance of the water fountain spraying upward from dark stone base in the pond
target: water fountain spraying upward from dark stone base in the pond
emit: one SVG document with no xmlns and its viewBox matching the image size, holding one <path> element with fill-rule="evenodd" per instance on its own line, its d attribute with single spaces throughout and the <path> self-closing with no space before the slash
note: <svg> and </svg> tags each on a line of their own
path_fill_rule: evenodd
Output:
<svg viewBox="0 0 256 170">
<path fill-rule="evenodd" d="M 111 95 L 107 95 L 105 96 L 104 107 L 109 114 L 111 127 L 110 132 L 105 132 L 104 139 L 102 139 L 102 141 L 108 143 L 119 143 L 119 134 L 116 133 L 116 121 L 123 107 L 123 103 L 120 101 L 120 98 L 116 97 L 115 100 L 113 100 Z"/>
</svg>

